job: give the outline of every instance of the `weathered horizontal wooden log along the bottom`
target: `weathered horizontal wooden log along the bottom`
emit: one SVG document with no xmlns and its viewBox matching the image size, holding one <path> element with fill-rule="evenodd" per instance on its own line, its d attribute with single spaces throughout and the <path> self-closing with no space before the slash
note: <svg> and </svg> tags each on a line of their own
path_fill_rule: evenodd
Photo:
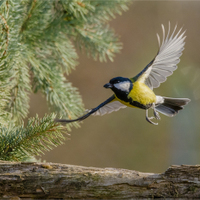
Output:
<svg viewBox="0 0 200 200">
<path fill-rule="evenodd" d="M 200 165 L 163 174 L 55 163 L 0 162 L 0 198 L 200 198 Z M 19 198 L 18 198 L 19 197 Z"/>
</svg>

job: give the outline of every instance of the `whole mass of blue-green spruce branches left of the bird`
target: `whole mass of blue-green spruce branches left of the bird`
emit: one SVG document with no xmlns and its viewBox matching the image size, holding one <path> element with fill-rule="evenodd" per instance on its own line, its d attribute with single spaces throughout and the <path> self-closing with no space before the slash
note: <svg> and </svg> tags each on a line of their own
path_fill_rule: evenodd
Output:
<svg viewBox="0 0 200 200">
<path fill-rule="evenodd" d="M 81 96 L 65 77 L 78 64 L 74 44 L 94 59 L 113 60 L 121 43 L 108 21 L 128 2 L 0 1 L 0 159 L 23 160 L 62 144 L 55 115 L 15 127 L 28 115 L 29 94 L 42 91 L 64 118 L 81 115 Z"/>
</svg>

